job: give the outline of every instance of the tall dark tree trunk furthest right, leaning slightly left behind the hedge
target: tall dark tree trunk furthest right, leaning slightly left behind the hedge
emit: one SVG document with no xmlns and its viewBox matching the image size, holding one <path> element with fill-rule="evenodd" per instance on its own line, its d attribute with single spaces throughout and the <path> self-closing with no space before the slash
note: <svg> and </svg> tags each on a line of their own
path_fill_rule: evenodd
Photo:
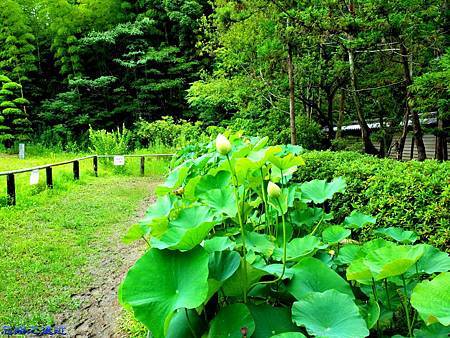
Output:
<svg viewBox="0 0 450 338">
<path fill-rule="evenodd" d="M 401 43 L 400 44 L 400 52 L 402 57 L 402 64 L 403 64 L 403 76 L 405 79 L 405 85 L 406 85 L 406 92 L 405 92 L 405 105 L 406 110 L 408 110 L 408 115 L 411 114 L 411 121 L 413 125 L 413 134 L 414 134 L 414 142 L 416 143 L 417 147 L 417 159 L 419 161 L 424 161 L 427 158 L 427 154 L 425 152 L 425 145 L 423 143 L 423 131 L 422 127 L 420 126 L 420 119 L 419 114 L 414 109 L 411 109 L 410 101 L 412 98 L 411 91 L 409 90 L 409 86 L 412 84 L 412 74 L 411 74 L 411 67 L 408 60 L 408 50 L 406 46 Z M 405 112 L 405 115 L 407 113 Z"/>
</svg>

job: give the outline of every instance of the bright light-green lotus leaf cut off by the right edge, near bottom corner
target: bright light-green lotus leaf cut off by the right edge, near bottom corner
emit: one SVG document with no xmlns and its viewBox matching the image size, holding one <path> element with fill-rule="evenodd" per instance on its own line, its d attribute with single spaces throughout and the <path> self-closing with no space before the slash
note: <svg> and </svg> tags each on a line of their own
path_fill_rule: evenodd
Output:
<svg viewBox="0 0 450 338">
<path fill-rule="evenodd" d="M 416 285 L 411 294 L 411 304 L 429 325 L 450 325 L 450 272 L 443 272 L 432 281 Z"/>
</svg>

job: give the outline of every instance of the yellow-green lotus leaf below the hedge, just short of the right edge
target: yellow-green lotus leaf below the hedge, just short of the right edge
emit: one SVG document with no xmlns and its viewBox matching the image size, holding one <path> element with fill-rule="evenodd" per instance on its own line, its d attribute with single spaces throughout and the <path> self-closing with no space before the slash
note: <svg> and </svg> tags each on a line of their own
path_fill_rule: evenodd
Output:
<svg viewBox="0 0 450 338">
<path fill-rule="evenodd" d="M 404 274 L 423 255 L 421 246 L 386 246 L 370 251 L 364 264 L 370 269 L 375 280 Z"/>
</svg>

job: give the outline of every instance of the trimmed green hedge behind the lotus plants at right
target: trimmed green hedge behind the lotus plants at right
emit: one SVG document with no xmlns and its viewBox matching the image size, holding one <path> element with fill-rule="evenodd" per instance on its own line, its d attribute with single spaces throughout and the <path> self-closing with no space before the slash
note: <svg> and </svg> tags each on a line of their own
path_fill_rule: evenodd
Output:
<svg viewBox="0 0 450 338">
<path fill-rule="evenodd" d="M 331 180 L 345 177 L 347 190 L 337 194 L 330 209 L 342 220 L 353 209 L 377 216 L 364 229 L 362 239 L 372 237 L 374 227 L 414 230 L 421 241 L 450 249 L 450 162 L 398 162 L 355 152 L 307 152 L 306 166 L 296 180 Z"/>
</svg>

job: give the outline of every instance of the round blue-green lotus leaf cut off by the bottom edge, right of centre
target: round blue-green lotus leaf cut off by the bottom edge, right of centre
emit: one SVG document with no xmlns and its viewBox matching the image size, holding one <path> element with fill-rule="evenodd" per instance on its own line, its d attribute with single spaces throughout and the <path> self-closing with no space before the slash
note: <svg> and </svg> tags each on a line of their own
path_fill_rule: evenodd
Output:
<svg viewBox="0 0 450 338">
<path fill-rule="evenodd" d="M 336 290 L 314 292 L 292 306 L 292 319 L 318 337 L 367 337 L 369 330 L 353 299 Z"/>
</svg>

